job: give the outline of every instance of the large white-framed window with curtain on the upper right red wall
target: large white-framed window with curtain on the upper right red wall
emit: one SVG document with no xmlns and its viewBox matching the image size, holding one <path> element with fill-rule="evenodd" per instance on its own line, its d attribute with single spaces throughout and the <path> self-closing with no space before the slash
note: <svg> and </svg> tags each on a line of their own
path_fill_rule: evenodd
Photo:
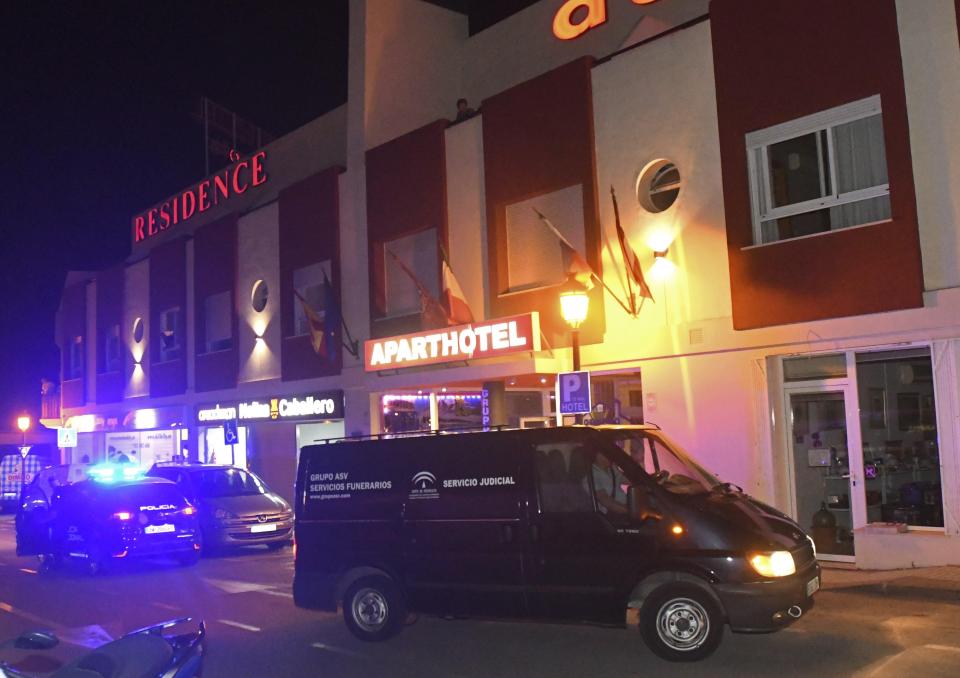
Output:
<svg viewBox="0 0 960 678">
<path fill-rule="evenodd" d="M 754 244 L 890 219 L 880 97 L 751 132 Z"/>
</svg>

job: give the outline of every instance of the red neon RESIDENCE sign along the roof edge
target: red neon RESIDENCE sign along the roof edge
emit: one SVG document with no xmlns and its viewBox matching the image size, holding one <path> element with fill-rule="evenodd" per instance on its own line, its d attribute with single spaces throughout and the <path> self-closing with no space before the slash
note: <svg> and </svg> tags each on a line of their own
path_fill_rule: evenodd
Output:
<svg viewBox="0 0 960 678">
<path fill-rule="evenodd" d="M 133 243 L 148 240 L 194 215 L 203 214 L 211 207 L 266 183 L 266 160 L 266 151 L 238 160 L 222 172 L 138 214 L 133 218 Z"/>
</svg>

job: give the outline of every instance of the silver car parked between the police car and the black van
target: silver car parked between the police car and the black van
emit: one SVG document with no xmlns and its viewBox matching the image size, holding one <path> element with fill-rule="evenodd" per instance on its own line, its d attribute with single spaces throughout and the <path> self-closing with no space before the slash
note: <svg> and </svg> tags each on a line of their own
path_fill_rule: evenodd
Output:
<svg viewBox="0 0 960 678">
<path fill-rule="evenodd" d="M 258 544 L 280 549 L 292 541 L 293 509 L 255 473 L 236 466 L 163 463 L 147 475 L 179 484 L 199 508 L 201 545 L 207 553 Z"/>
</svg>

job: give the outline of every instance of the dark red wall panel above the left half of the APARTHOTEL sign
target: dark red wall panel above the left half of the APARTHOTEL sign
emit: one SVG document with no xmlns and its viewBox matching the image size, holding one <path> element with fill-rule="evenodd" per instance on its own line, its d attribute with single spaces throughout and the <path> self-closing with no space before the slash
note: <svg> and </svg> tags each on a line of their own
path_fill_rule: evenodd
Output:
<svg viewBox="0 0 960 678">
<path fill-rule="evenodd" d="M 437 237 L 446 246 L 447 165 L 444 130 L 448 125 L 446 120 L 437 120 L 367 151 L 371 337 L 424 329 L 419 313 L 399 318 L 383 317 L 386 308 L 383 243 L 436 228 Z M 439 258 L 438 248 L 438 262 Z M 429 284 L 428 281 L 423 282 Z"/>
</svg>

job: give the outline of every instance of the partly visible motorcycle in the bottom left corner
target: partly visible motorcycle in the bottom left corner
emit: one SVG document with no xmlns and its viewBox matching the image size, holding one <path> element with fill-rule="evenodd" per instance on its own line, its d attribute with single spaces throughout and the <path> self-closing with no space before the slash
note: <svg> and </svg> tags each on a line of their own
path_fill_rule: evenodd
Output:
<svg viewBox="0 0 960 678">
<path fill-rule="evenodd" d="M 195 631 L 164 631 L 193 621 L 182 617 L 130 631 L 63 666 L 51 678 L 193 678 L 203 670 L 207 630 L 203 621 Z M 49 631 L 27 631 L 0 644 L 20 650 L 49 650 L 60 640 Z M 0 678 L 33 678 L 0 662 Z"/>
</svg>

